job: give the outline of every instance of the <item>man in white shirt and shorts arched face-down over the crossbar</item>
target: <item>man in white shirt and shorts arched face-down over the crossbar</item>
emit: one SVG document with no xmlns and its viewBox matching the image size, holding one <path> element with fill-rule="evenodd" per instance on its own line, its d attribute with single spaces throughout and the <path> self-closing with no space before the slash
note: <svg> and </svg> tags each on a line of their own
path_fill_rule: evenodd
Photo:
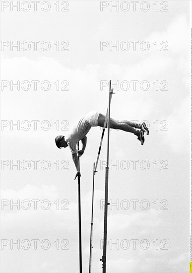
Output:
<svg viewBox="0 0 192 273">
<path fill-rule="evenodd" d="M 91 127 L 96 126 L 104 127 L 104 123 L 105 115 L 101 114 L 98 111 L 91 111 L 88 114 L 86 114 L 86 116 L 76 121 L 69 129 L 66 136 L 56 136 L 55 141 L 58 148 L 61 149 L 62 147 L 66 148 L 67 146 L 69 146 L 69 148 L 71 149 L 72 159 L 77 171 L 74 179 L 76 179 L 77 176 L 81 176 L 79 171 L 77 154 L 78 156 L 81 156 L 84 153 L 87 143 L 86 137 L 87 133 L 89 132 Z M 141 145 L 143 145 L 145 141 L 144 133 L 149 135 L 149 130 L 144 122 L 139 124 L 130 121 L 116 121 L 110 118 L 110 128 L 134 134 L 135 136 L 137 136 L 137 139 L 141 142 Z M 134 128 L 140 130 L 136 130 Z M 81 140 L 82 142 L 82 149 L 77 151 L 76 144 L 79 140 Z"/>
</svg>

